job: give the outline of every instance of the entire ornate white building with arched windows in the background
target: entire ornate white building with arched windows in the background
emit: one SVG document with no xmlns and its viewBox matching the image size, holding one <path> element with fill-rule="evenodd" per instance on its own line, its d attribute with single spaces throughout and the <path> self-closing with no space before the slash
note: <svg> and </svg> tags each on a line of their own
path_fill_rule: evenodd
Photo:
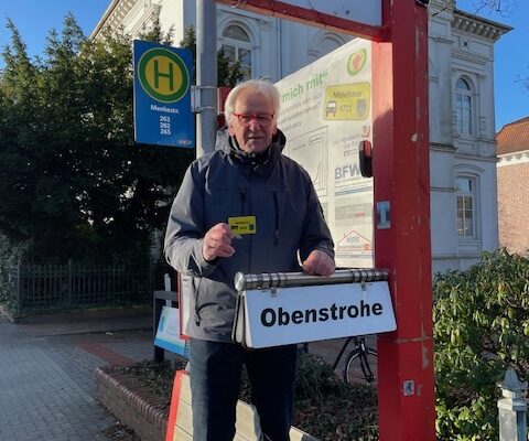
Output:
<svg viewBox="0 0 529 441">
<path fill-rule="evenodd" d="M 498 246 L 494 44 L 509 26 L 430 1 L 430 173 L 434 271 L 466 268 Z M 450 2 L 449 2 L 450 3 Z M 111 0 L 91 36 L 137 35 L 159 20 L 177 45 L 194 0 Z M 217 4 L 217 44 L 250 77 L 272 82 L 350 40 L 324 29 Z M 280 47 L 281 50 L 278 50 Z M 376 146 L 375 146 L 376 148 Z"/>
</svg>

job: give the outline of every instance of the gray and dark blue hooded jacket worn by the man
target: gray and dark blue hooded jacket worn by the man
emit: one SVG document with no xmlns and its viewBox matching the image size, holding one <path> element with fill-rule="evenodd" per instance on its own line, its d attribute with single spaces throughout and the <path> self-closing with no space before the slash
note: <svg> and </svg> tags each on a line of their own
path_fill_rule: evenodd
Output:
<svg viewBox="0 0 529 441">
<path fill-rule="evenodd" d="M 300 271 L 298 252 L 303 261 L 314 249 L 334 257 L 311 178 L 281 154 L 284 143 L 278 130 L 264 155 L 249 158 L 231 137 L 219 137 L 217 150 L 195 160 L 185 173 L 171 208 L 164 251 L 176 271 L 193 276 L 187 334 L 195 338 L 230 342 L 237 271 Z M 234 239 L 231 257 L 204 260 L 206 232 L 227 224 L 228 217 L 249 215 L 256 216 L 257 233 Z"/>
</svg>

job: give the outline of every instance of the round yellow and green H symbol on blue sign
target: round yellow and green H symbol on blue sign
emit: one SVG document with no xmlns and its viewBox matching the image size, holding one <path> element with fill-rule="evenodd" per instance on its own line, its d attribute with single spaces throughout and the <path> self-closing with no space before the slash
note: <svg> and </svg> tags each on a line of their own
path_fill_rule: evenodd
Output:
<svg viewBox="0 0 529 441">
<path fill-rule="evenodd" d="M 145 51 L 138 63 L 138 78 L 142 89 L 161 103 L 175 103 L 190 88 L 190 73 L 174 52 L 154 47 Z"/>
</svg>

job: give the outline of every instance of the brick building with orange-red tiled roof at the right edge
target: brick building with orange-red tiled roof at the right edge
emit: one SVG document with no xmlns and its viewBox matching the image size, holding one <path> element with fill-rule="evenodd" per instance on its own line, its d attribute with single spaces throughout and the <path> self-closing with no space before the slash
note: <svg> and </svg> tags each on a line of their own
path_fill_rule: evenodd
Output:
<svg viewBox="0 0 529 441">
<path fill-rule="evenodd" d="M 504 126 L 496 140 L 499 245 L 529 256 L 529 117 Z"/>
</svg>

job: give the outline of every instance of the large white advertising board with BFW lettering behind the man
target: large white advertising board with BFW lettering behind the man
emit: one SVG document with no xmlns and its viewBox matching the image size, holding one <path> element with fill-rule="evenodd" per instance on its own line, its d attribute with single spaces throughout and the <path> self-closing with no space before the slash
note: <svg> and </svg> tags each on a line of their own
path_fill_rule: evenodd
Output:
<svg viewBox="0 0 529 441">
<path fill-rule="evenodd" d="M 283 153 L 309 172 L 333 234 L 336 266 L 371 268 L 373 179 L 358 146 L 373 143 L 371 45 L 355 39 L 276 84 Z"/>
</svg>

